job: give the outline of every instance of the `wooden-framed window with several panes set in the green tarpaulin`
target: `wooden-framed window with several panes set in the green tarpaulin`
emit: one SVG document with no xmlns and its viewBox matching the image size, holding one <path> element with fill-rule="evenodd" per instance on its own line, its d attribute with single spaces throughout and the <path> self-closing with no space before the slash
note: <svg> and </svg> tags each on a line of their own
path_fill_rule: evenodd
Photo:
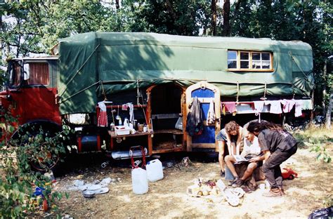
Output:
<svg viewBox="0 0 333 219">
<path fill-rule="evenodd" d="M 229 51 L 235 51 L 237 53 L 237 68 L 228 68 L 228 71 L 230 72 L 273 72 L 273 52 L 270 51 L 240 51 L 240 50 L 228 50 Z M 244 69 L 240 68 L 240 53 L 249 53 L 249 68 Z M 269 69 L 256 69 L 252 68 L 252 53 L 260 53 L 260 57 L 262 57 L 262 53 L 269 53 L 270 54 L 270 68 Z M 262 63 L 261 58 L 261 63 Z M 228 62 L 228 55 L 227 55 L 227 62 Z"/>
</svg>

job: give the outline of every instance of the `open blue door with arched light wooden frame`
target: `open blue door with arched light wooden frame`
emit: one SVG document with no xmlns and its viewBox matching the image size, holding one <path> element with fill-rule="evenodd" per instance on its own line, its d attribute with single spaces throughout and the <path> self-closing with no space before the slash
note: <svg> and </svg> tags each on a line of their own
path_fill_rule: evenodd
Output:
<svg viewBox="0 0 333 219">
<path fill-rule="evenodd" d="M 215 137 L 220 131 L 220 118 L 221 118 L 221 100 L 220 91 L 213 84 L 207 83 L 207 81 L 200 81 L 197 84 L 193 84 L 186 89 L 186 115 L 189 112 L 189 105 L 193 98 L 197 97 L 201 102 L 202 119 L 204 120 L 204 130 L 201 135 L 190 136 L 187 133 L 187 151 L 217 151 L 218 144 L 215 141 Z M 209 110 L 209 102 L 211 98 L 214 100 L 214 112 L 216 120 L 214 124 L 207 123 L 207 114 Z"/>
</svg>

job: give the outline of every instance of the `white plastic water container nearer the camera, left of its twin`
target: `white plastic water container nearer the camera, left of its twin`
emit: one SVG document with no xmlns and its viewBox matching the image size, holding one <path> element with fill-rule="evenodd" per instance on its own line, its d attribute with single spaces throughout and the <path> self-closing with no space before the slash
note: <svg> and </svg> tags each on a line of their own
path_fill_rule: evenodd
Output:
<svg viewBox="0 0 333 219">
<path fill-rule="evenodd" d="M 147 171 L 143 168 L 132 169 L 132 188 L 134 194 L 145 194 L 148 192 Z"/>
</svg>

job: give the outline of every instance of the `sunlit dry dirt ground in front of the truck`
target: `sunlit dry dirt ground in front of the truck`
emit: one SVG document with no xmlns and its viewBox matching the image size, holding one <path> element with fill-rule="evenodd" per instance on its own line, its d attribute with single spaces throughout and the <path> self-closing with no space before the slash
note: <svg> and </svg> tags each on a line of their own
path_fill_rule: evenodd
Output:
<svg viewBox="0 0 333 219">
<path fill-rule="evenodd" d="M 332 156 L 332 147 L 329 152 Z M 190 167 L 165 167 L 164 179 L 149 183 L 148 193 L 142 195 L 132 192 L 131 168 L 114 164 L 100 168 L 101 160 L 87 162 L 80 168 L 74 166 L 74 171 L 57 178 L 54 190 L 70 194 L 69 199 L 58 202 L 58 207 L 61 216 L 73 218 L 307 218 L 312 211 L 323 207 L 325 197 L 332 197 L 332 163 L 322 164 L 315 160 L 315 155 L 299 149 L 284 164 L 299 173 L 299 178 L 284 181 L 285 197 L 262 197 L 258 189 L 245 194 L 236 207 L 222 197 L 213 200 L 186 194 L 187 187 L 197 178 L 220 178 L 216 160 L 204 162 L 191 157 Z M 129 165 L 130 160 L 123 163 Z M 92 183 L 107 177 L 115 180 L 109 185 L 110 191 L 93 199 L 85 199 L 81 192 L 66 191 L 74 180 Z M 46 215 L 53 217 L 55 213 Z"/>
</svg>

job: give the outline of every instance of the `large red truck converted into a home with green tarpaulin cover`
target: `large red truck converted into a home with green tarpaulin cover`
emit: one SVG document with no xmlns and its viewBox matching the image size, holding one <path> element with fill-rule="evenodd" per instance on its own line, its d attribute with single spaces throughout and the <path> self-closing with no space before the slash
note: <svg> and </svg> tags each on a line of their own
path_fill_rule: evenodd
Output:
<svg viewBox="0 0 333 219">
<path fill-rule="evenodd" d="M 51 54 L 8 61 L 1 106 L 18 130 L 67 124 L 79 153 L 217 152 L 230 120 L 282 124 L 313 109 L 312 49 L 301 41 L 89 32 L 59 39 Z M 186 131 L 194 100 L 200 135 Z"/>
</svg>

